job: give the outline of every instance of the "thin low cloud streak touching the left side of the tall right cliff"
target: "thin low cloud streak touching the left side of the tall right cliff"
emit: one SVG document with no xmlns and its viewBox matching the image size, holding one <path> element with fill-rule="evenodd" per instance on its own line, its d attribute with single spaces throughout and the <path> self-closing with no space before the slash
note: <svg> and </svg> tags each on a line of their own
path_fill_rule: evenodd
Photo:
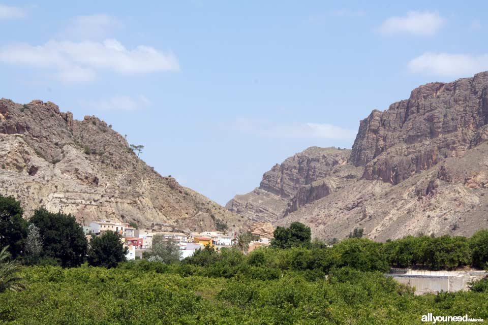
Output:
<svg viewBox="0 0 488 325">
<path fill-rule="evenodd" d="M 232 129 L 269 138 L 346 140 L 356 137 L 356 131 L 327 123 L 277 124 L 265 120 L 238 118 Z"/>
</svg>

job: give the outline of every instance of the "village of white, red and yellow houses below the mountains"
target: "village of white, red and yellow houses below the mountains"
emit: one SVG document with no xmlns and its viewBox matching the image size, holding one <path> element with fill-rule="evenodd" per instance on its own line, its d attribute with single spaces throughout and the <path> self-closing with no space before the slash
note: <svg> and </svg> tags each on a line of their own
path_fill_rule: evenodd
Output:
<svg viewBox="0 0 488 325">
<path fill-rule="evenodd" d="M 126 254 L 127 260 L 142 259 L 144 252 L 150 252 L 153 249 L 153 238 L 161 236 L 165 241 L 172 242 L 179 248 L 179 258 L 184 259 L 192 256 L 195 251 L 203 249 L 205 246 L 220 251 L 222 248 L 231 248 L 236 244 L 236 232 L 161 232 L 151 229 L 138 229 L 129 223 L 119 220 L 107 219 L 92 221 L 89 225 L 83 226 L 83 232 L 89 242 L 94 236 L 100 236 L 106 231 L 112 231 L 120 235 L 120 240 L 124 247 L 128 248 Z M 248 254 L 261 246 L 269 246 L 270 239 L 260 236 L 258 233 L 252 233 L 253 239 L 243 253 Z"/>
</svg>

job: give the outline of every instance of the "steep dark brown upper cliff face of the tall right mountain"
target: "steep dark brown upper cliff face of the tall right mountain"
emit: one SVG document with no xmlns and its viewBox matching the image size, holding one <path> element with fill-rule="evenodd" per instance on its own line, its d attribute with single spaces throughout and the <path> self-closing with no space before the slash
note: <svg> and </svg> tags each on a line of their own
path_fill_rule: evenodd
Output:
<svg viewBox="0 0 488 325">
<path fill-rule="evenodd" d="M 350 161 L 365 179 L 398 184 L 486 139 L 488 73 L 430 83 L 361 121 Z"/>
</svg>

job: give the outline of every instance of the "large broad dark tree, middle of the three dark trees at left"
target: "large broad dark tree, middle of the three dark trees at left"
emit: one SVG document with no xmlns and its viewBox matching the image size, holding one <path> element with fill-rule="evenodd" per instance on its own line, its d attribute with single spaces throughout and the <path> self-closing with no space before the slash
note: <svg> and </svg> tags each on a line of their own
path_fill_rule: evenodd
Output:
<svg viewBox="0 0 488 325">
<path fill-rule="evenodd" d="M 70 214 L 51 213 L 38 209 L 29 220 L 39 228 L 42 257 L 54 258 L 63 267 L 80 266 L 85 258 L 87 242 L 83 229 Z"/>
</svg>

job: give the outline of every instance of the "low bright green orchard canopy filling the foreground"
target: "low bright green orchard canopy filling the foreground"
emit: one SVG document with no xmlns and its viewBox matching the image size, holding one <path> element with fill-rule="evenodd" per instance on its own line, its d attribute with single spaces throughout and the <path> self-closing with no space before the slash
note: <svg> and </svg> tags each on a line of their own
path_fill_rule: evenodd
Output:
<svg viewBox="0 0 488 325">
<path fill-rule="evenodd" d="M 488 318 L 487 293 L 414 296 L 379 272 L 339 268 L 326 279 L 287 269 L 272 279 L 267 272 L 253 277 L 262 266 L 280 266 L 273 256 L 278 251 L 306 250 L 259 249 L 249 256 L 228 250 L 205 267 L 132 261 L 114 269 L 24 268 L 29 287 L 0 294 L 0 323 L 402 325 L 421 323 L 427 312 Z M 223 261 L 234 261 L 240 271 L 205 275 Z"/>
</svg>

